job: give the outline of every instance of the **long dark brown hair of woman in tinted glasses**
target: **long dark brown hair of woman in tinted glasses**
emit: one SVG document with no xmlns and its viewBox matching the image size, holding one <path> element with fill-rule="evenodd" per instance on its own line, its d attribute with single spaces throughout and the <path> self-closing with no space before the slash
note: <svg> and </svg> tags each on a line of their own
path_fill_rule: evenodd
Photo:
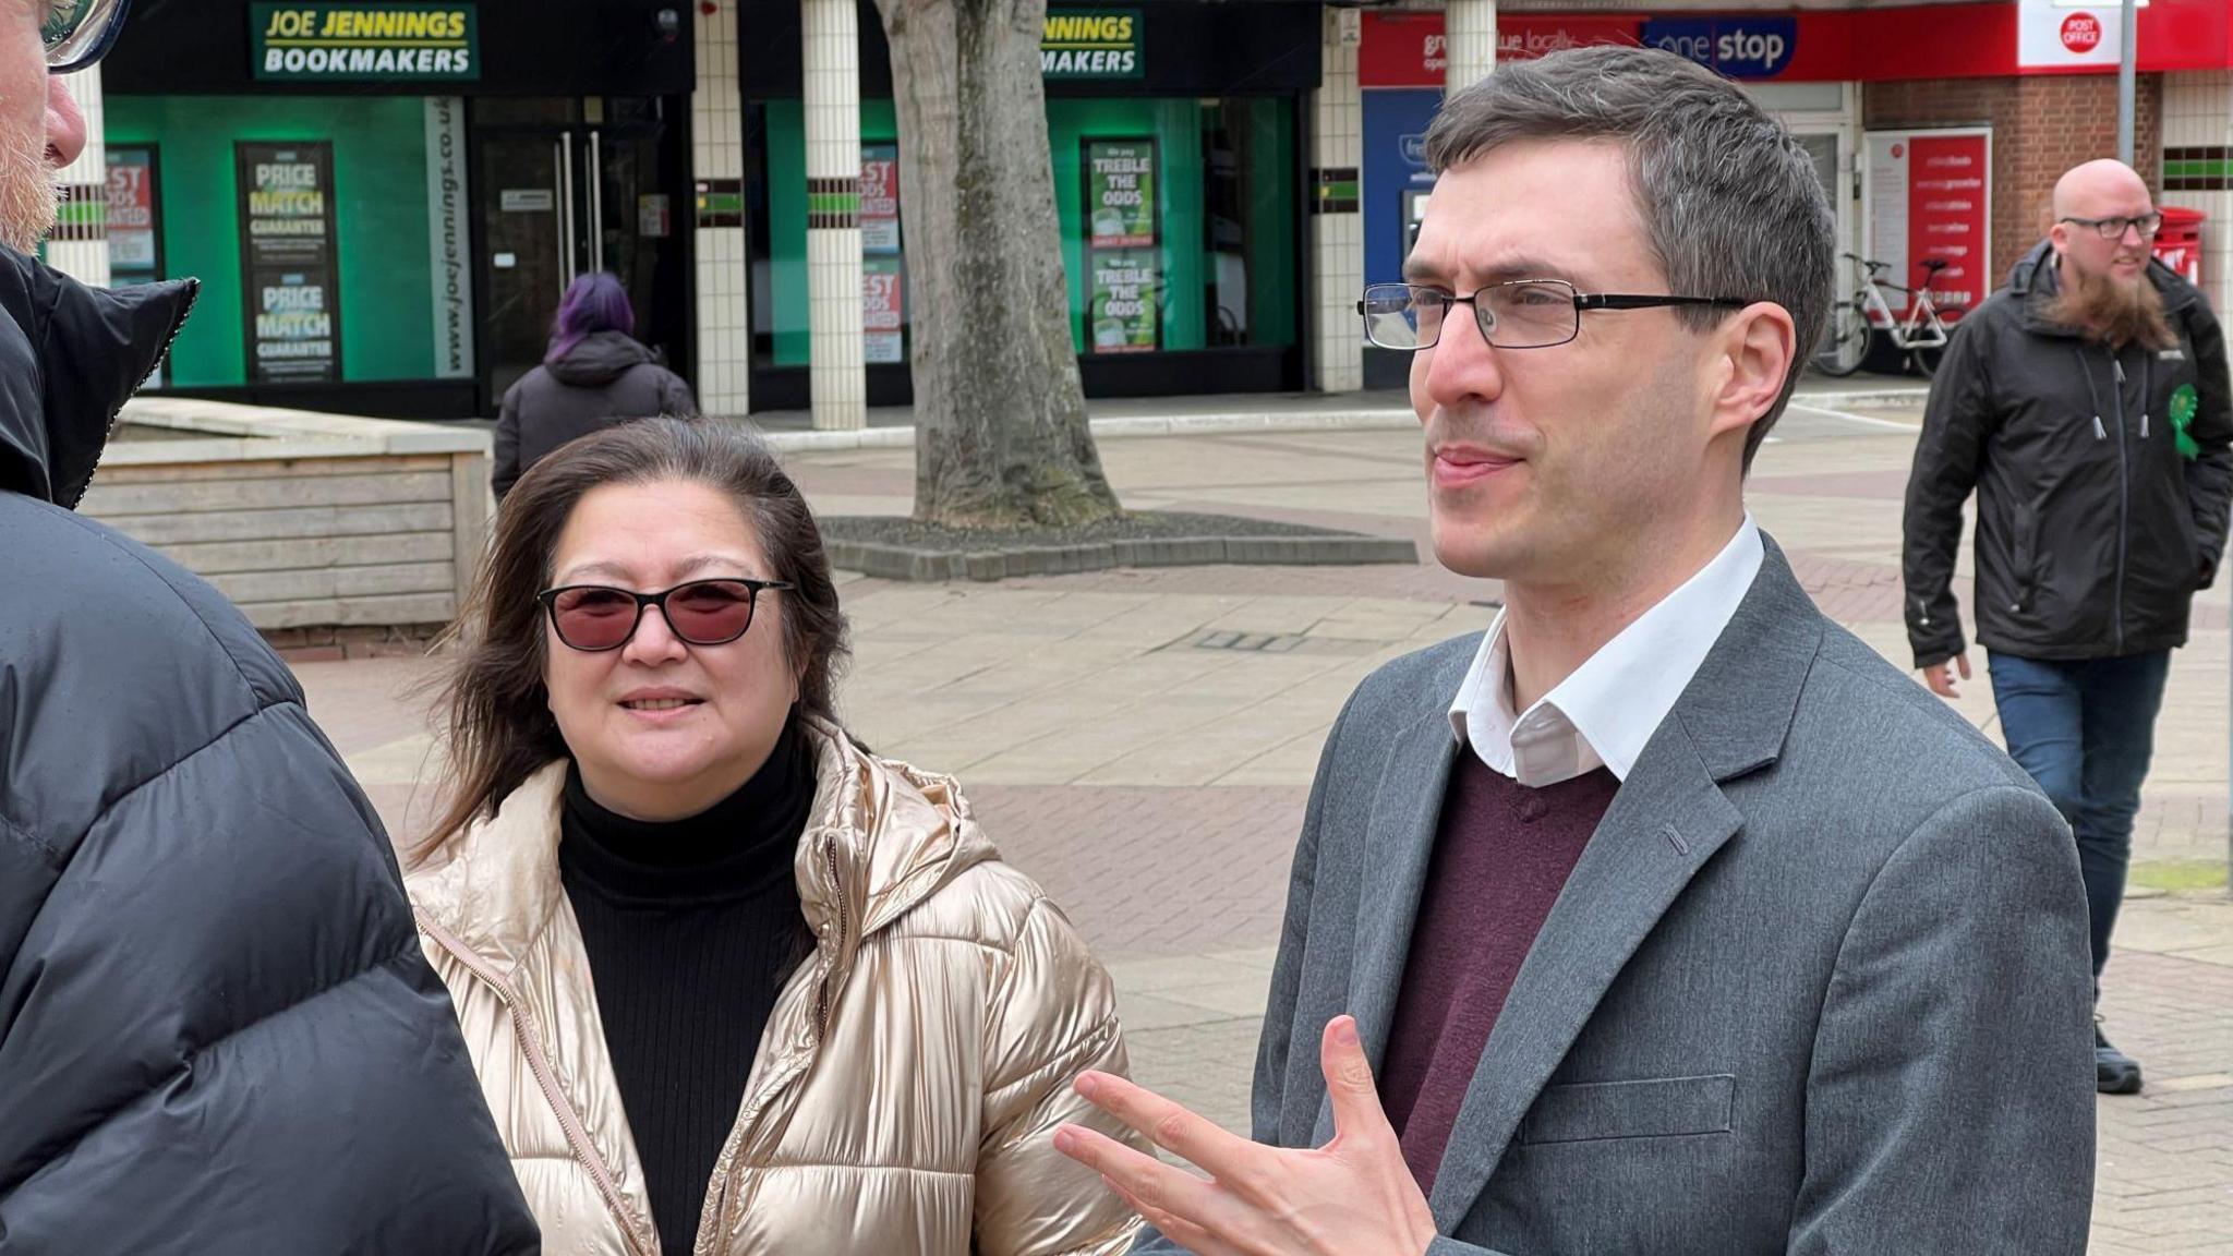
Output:
<svg viewBox="0 0 2233 1256">
<path fill-rule="evenodd" d="M 728 494 L 753 521 L 782 594 L 784 650 L 799 668 L 799 708 L 837 720 L 831 697 L 846 659 L 822 530 L 775 451 L 732 422 L 643 418 L 585 436 L 538 460 L 505 494 L 496 541 L 458 621 L 444 635 L 453 659 L 435 679 L 456 789 L 433 831 L 406 851 L 433 858 L 543 764 L 567 758 L 543 688 L 545 632 L 536 601 L 552 577 L 558 536 L 583 494 L 603 485 L 688 480 Z"/>
</svg>

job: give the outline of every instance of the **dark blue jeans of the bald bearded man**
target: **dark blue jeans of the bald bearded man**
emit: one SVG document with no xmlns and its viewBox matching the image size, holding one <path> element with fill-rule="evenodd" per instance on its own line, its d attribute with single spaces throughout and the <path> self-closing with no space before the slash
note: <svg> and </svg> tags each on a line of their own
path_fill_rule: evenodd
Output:
<svg viewBox="0 0 2233 1256">
<path fill-rule="evenodd" d="M 2133 863 L 2133 818 L 2155 753 L 2170 650 L 2068 664 L 1994 653 L 1987 666 L 2007 755 L 2048 791 L 2079 838 L 2099 983 L 2124 903 L 2124 869 Z"/>
</svg>

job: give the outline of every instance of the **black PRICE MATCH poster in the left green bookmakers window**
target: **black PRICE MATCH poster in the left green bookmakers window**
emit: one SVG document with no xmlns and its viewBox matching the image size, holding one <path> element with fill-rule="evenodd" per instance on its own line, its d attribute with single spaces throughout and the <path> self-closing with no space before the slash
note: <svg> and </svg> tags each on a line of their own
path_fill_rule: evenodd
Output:
<svg viewBox="0 0 2233 1256">
<path fill-rule="evenodd" d="M 342 378 L 333 143 L 232 145 L 239 161 L 241 308 L 248 382 Z"/>
</svg>

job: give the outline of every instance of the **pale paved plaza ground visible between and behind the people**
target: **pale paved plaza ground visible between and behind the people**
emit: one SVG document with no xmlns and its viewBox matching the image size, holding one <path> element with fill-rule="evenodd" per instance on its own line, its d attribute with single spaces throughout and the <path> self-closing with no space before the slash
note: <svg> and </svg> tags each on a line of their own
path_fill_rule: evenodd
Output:
<svg viewBox="0 0 2233 1256">
<path fill-rule="evenodd" d="M 1829 402 L 1822 402 L 1829 405 Z M 1900 492 L 1914 409 L 1798 409 L 1751 507 L 1822 608 L 1905 666 Z M 1101 443 L 1125 505 L 1416 536 L 1420 565 L 1175 568 L 904 586 L 844 577 L 846 722 L 956 773 L 1009 860 L 1063 903 L 1123 995 L 1137 1073 L 1244 1129 L 1286 863 L 1351 686 L 1485 628 L 1498 588 L 1434 565 L 1416 431 Z M 904 514 L 909 449 L 797 451 L 826 514 Z M 1963 563 L 1967 603 L 1967 559 Z M 1965 606 L 1967 610 L 1967 606 Z M 2095 1252 L 2233 1254 L 2233 903 L 2226 592 L 2179 650 L 2103 992 L 2148 1093 L 2101 1100 Z M 1994 733 L 1983 655 L 1961 711 Z M 301 662 L 313 715 L 415 834 L 435 776 L 424 659 Z"/>
</svg>

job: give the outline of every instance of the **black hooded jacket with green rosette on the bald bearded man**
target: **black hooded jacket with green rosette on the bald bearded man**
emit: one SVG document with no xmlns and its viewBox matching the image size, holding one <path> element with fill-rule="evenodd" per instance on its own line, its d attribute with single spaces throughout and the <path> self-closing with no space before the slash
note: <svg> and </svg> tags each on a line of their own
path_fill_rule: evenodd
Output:
<svg viewBox="0 0 2233 1256">
<path fill-rule="evenodd" d="M 2148 279 L 2177 333 L 2170 349 L 2112 353 L 2054 324 L 2048 244 L 1954 329 L 1907 480 L 1916 666 L 1965 648 L 1954 554 L 1972 487 L 1985 648 L 2099 659 L 2186 644 L 2188 606 L 2226 545 L 2233 387 L 2202 293 L 2162 264 Z M 2182 422 L 2193 458 L 2179 451 Z"/>
</svg>

